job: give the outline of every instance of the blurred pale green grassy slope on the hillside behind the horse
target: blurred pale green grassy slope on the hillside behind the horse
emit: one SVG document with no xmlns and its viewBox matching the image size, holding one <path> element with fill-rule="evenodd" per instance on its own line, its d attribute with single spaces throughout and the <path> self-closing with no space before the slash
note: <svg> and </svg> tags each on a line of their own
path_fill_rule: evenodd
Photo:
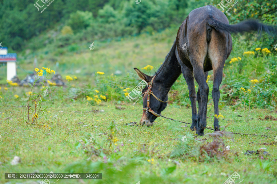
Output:
<svg viewBox="0 0 277 184">
<path fill-rule="evenodd" d="M 76 75 L 84 82 L 90 82 L 90 78 L 97 71 L 106 74 L 116 74 L 117 70 L 126 76 L 127 72 L 134 67 L 145 67 L 147 64 L 159 66 L 169 52 L 178 29 L 166 29 L 161 33 L 153 32 L 153 35 L 146 33 L 140 36 L 129 36 L 121 38 L 120 41 L 112 40 L 95 41 L 94 50 L 90 51 L 91 43 L 81 42 L 78 44 L 78 51 L 70 51 L 69 46 L 56 48 L 49 45 L 39 49 L 35 53 L 22 51 L 18 53 L 17 75 L 20 80 L 25 79 L 34 68 L 34 56 L 37 56 L 37 68 L 48 67 L 64 75 Z M 75 45 L 75 44 L 73 44 Z M 56 63 L 59 67 L 56 67 Z M 2 66 L 5 71 L 6 67 Z M 65 76 L 63 79 L 65 79 Z M 6 84 L 6 75 L 0 76 L 0 84 Z"/>
</svg>

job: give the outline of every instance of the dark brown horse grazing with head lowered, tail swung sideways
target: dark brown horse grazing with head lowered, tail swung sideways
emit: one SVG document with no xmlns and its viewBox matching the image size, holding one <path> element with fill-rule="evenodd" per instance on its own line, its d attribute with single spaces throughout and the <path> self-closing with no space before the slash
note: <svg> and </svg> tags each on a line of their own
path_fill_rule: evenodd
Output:
<svg viewBox="0 0 277 184">
<path fill-rule="evenodd" d="M 141 79 L 148 82 L 143 89 L 143 116 L 140 124 L 153 125 L 157 116 L 167 106 L 167 94 L 183 73 L 189 89 L 191 100 L 192 125 L 198 135 L 204 135 L 207 125 L 207 102 L 209 86 L 207 85 L 208 71 L 213 70 L 212 97 L 215 114 L 219 114 L 219 85 L 223 77 L 223 67 L 232 50 L 230 33 L 251 31 L 274 32 L 275 28 L 247 20 L 236 25 L 229 25 L 225 14 L 212 5 L 192 10 L 180 26 L 176 40 L 166 56 L 165 61 L 154 76 L 148 76 L 134 68 Z M 199 85 L 196 95 L 194 79 Z M 198 101 L 198 114 L 196 108 Z M 214 119 L 215 131 L 219 130 L 218 119 Z"/>
</svg>

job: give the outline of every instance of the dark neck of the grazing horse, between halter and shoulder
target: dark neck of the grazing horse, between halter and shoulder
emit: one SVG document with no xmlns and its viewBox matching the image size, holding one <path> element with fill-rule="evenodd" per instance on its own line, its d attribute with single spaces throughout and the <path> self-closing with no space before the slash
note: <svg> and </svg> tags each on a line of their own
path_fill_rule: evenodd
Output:
<svg viewBox="0 0 277 184">
<path fill-rule="evenodd" d="M 176 44 L 174 42 L 155 79 L 163 82 L 163 86 L 168 90 L 182 73 L 181 66 L 175 56 L 175 49 Z"/>
</svg>

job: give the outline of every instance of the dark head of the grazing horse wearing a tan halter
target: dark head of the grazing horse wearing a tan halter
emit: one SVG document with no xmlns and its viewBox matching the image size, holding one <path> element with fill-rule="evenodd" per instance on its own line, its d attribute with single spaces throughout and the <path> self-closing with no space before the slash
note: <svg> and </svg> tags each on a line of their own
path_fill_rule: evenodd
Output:
<svg viewBox="0 0 277 184">
<path fill-rule="evenodd" d="M 140 124 L 152 126 L 153 122 L 157 118 L 156 115 L 151 112 L 160 114 L 167 106 L 167 93 L 169 88 L 163 87 L 163 81 L 159 80 L 155 75 L 153 77 L 144 74 L 139 69 L 134 68 L 139 77 L 145 80 L 148 85 L 143 89 L 143 116 L 140 120 Z"/>
</svg>

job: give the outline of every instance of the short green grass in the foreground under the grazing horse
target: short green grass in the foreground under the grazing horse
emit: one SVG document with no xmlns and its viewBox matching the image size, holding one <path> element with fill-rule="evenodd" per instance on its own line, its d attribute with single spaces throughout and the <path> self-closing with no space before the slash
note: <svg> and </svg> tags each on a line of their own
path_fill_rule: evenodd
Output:
<svg viewBox="0 0 277 184">
<path fill-rule="evenodd" d="M 189 133 L 189 127 L 184 124 L 157 118 L 153 127 L 126 126 L 126 123 L 139 123 L 142 115 L 142 105 L 121 104 L 124 110 L 115 109 L 111 102 L 100 106 L 92 106 L 86 101 L 49 100 L 46 101 L 49 112 L 47 120 L 38 119 L 35 125 L 26 124 L 23 120 L 25 107 L 14 100 L 2 101 L 0 114 L 0 166 L 1 182 L 5 172 L 102 172 L 103 180 L 59 180 L 57 183 L 223 183 L 231 174 L 237 171 L 242 183 L 276 183 L 276 143 L 277 135 L 275 121 L 258 120 L 259 117 L 272 115 L 266 109 L 252 109 L 251 120 L 245 121 L 243 109 L 231 111 L 225 106 L 220 109 L 225 117 L 221 126 L 230 125 L 226 131 L 240 133 L 265 134 L 268 137 L 234 135 L 232 140 L 224 137 L 226 145 L 238 156 L 228 159 L 211 159 L 199 161 L 194 158 L 179 156 L 170 158 L 170 153 L 182 141 L 180 138 Z M 208 109 L 211 106 L 208 107 Z M 103 109 L 105 112 L 94 113 L 92 110 Z M 207 114 L 213 117 L 213 108 Z M 168 117 L 191 122 L 191 109 L 169 105 L 162 113 Z M 10 117 L 10 118 L 8 118 Z M 8 118 L 8 119 L 7 119 Z M 252 119 L 253 118 L 253 119 Z M 122 121 L 120 121 L 123 119 Z M 106 144 L 110 131 L 110 122 L 117 124 L 118 145 L 109 147 Z M 213 118 L 207 119 L 207 126 L 212 127 Z M 51 127 L 45 128 L 43 125 Z M 84 127 L 83 125 L 88 125 Z M 177 131 L 173 126 L 180 131 Z M 271 126 L 270 130 L 265 128 Z M 6 133 L 7 132 L 7 133 Z M 107 133 L 98 136 L 99 133 Z M 213 132 L 206 129 L 205 133 Z M 46 135 L 50 133 L 51 135 Z M 90 143 L 90 136 L 95 141 Z M 198 138 L 207 138 L 198 137 Z M 195 146 L 189 142 L 188 145 Z M 80 141 L 80 142 L 78 142 Z M 211 142 L 207 139 L 207 142 Z M 85 144 L 86 143 L 86 144 Z M 251 144 L 250 144 L 251 143 Z M 271 143 L 263 145 L 263 143 Z M 121 145 L 123 144 L 123 146 Z M 120 151 L 118 150 L 118 147 Z M 246 150 L 256 151 L 267 148 L 269 156 L 261 159 L 258 155 L 244 155 Z M 142 151 L 143 148 L 145 151 Z M 117 150 L 117 152 L 114 152 Z M 151 151 L 153 150 L 153 151 Z M 157 152 L 156 152 L 157 151 Z M 190 150 L 190 152 L 195 149 Z M 155 152 L 155 153 L 154 153 Z M 197 151 L 196 151 L 197 152 Z M 15 155 L 22 163 L 11 165 Z M 106 159 L 104 159 L 106 157 Z M 153 158 L 153 163 L 148 159 Z M 176 165 L 176 163 L 178 163 Z M 176 166 L 176 168 L 175 168 Z M 10 180 L 9 183 L 31 183 L 39 180 Z"/>
</svg>

